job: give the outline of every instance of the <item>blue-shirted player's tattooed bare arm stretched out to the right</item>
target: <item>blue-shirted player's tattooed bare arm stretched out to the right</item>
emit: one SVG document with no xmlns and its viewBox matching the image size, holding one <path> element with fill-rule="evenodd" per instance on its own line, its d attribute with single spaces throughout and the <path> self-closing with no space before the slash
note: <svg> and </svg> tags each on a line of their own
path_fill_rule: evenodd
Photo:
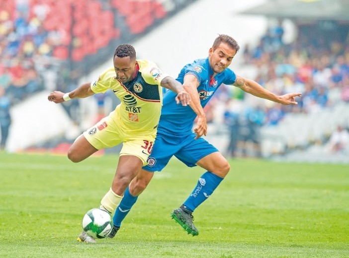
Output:
<svg viewBox="0 0 349 258">
<path fill-rule="evenodd" d="M 250 93 L 256 97 L 268 99 L 283 105 L 297 105 L 295 97 L 300 97 L 302 93 L 288 93 L 282 96 L 277 96 L 274 93 L 264 89 L 258 82 L 237 75 L 234 86 L 239 87 L 243 91 Z"/>
</svg>

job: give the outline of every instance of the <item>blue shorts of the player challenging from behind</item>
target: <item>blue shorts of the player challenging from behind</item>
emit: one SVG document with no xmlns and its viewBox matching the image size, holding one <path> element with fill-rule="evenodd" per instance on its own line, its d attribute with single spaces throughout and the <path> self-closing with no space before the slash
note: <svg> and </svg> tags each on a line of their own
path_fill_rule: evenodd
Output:
<svg viewBox="0 0 349 258">
<path fill-rule="evenodd" d="M 158 131 L 152 153 L 143 169 L 149 172 L 161 171 L 172 156 L 175 156 L 188 167 L 196 166 L 203 157 L 217 152 L 218 149 L 204 138 L 195 140 L 195 133 L 174 135 Z"/>
</svg>

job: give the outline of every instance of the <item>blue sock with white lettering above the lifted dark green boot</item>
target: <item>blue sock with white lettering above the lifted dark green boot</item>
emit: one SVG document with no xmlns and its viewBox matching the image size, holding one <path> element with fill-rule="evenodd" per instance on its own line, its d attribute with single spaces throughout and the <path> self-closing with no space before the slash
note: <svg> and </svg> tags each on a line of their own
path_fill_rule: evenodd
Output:
<svg viewBox="0 0 349 258">
<path fill-rule="evenodd" d="M 197 183 L 196 188 L 183 203 L 184 208 L 189 211 L 204 202 L 222 182 L 223 178 L 216 176 L 211 172 L 205 172 Z M 115 217 L 115 216 L 114 216 Z"/>
</svg>

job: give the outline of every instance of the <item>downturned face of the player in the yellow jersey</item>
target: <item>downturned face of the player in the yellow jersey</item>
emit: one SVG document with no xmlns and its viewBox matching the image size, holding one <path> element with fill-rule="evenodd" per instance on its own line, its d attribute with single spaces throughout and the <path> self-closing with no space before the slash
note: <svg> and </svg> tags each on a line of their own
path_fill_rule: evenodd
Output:
<svg viewBox="0 0 349 258">
<path fill-rule="evenodd" d="M 133 74 L 136 69 L 136 60 L 131 60 L 130 57 L 114 58 L 114 69 L 116 78 L 125 83 L 133 79 Z"/>
</svg>

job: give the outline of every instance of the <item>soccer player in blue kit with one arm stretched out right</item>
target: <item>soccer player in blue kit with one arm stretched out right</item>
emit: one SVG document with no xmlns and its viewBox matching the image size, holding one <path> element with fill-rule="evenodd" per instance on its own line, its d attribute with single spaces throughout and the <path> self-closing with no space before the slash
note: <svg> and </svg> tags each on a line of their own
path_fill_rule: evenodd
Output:
<svg viewBox="0 0 349 258">
<path fill-rule="evenodd" d="M 228 161 L 217 148 L 201 137 L 206 135 L 207 131 L 203 107 L 222 83 L 239 87 L 247 93 L 284 105 L 297 104 L 295 97 L 300 96 L 301 93 L 276 96 L 257 82 L 236 75 L 229 69 L 228 66 L 238 50 L 239 45 L 232 37 L 219 35 L 209 49 L 206 59 L 195 60 L 181 69 L 177 80 L 183 84 L 184 89 L 191 96 L 190 107 L 175 105 L 175 94 L 171 91 L 164 95 L 153 151 L 148 158 L 148 164 L 128 186 L 115 211 L 114 227 L 109 235 L 110 238 L 115 236 L 122 220 L 136 202 L 137 196 L 145 190 L 154 172 L 161 171 L 172 156 L 188 167 L 197 165 L 206 170 L 188 198 L 171 213 L 172 218 L 188 234 L 193 236 L 199 234 L 193 224 L 192 212 L 213 193 L 230 170 Z M 198 121 L 192 132 L 196 116 Z M 177 119 L 178 117 L 180 119 Z"/>
</svg>

